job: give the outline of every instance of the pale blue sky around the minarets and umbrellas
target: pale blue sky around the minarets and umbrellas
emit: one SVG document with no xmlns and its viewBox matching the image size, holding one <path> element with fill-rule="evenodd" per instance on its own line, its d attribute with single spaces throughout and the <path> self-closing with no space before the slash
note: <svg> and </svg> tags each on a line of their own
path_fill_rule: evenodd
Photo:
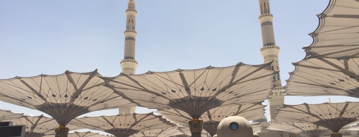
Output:
<svg viewBox="0 0 359 137">
<path fill-rule="evenodd" d="M 282 85 L 294 71 L 291 63 L 304 59 L 301 48 L 312 43 L 308 34 L 317 28 L 316 14 L 328 2 L 270 1 Z M 137 0 L 136 73 L 263 63 L 258 5 L 255 0 Z M 103 76 L 119 75 L 126 9 L 126 0 L 0 0 L 0 79 L 95 69 Z M 328 98 L 287 96 L 285 104 L 317 104 Z M 43 114 L 1 101 L 0 109 Z M 118 110 L 90 116 L 100 113 L 117 115 Z"/>
</svg>

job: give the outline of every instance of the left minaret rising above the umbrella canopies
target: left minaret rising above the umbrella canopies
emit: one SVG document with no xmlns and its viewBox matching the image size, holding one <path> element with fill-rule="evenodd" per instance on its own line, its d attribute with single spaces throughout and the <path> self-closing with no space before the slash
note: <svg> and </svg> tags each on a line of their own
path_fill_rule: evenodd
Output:
<svg viewBox="0 0 359 137">
<path fill-rule="evenodd" d="M 125 36 L 125 53 L 121 60 L 122 73 L 135 74 L 138 62 L 135 60 L 135 47 L 137 32 L 135 31 L 137 11 L 135 9 L 136 2 L 129 0 L 127 2 L 128 8 L 126 10 L 126 30 Z"/>
</svg>

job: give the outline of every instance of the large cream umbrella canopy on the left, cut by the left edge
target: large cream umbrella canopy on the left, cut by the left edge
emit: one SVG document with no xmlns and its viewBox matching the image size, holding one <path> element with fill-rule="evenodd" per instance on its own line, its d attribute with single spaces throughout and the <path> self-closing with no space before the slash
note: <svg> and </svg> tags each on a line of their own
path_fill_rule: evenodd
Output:
<svg viewBox="0 0 359 137">
<path fill-rule="evenodd" d="M 61 126 L 85 113 L 134 106 L 103 86 L 96 71 L 0 80 L 0 100 L 43 111 Z"/>
</svg>

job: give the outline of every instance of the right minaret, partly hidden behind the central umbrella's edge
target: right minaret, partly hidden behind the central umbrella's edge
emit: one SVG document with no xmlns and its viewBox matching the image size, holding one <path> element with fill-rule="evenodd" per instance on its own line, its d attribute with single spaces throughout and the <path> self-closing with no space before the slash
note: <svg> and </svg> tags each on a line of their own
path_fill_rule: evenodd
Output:
<svg viewBox="0 0 359 137">
<path fill-rule="evenodd" d="M 263 47 L 260 49 L 260 54 L 262 55 L 265 63 L 273 61 L 271 65 L 272 70 L 279 72 L 279 47 L 275 45 L 273 31 L 273 15 L 270 12 L 269 0 L 258 1 L 260 8 L 259 23 L 261 27 L 263 42 Z M 274 79 L 277 80 L 274 83 L 275 89 L 273 90 L 271 99 L 268 99 L 271 119 L 273 119 L 277 108 L 283 107 L 284 104 L 284 94 L 282 93 L 284 88 L 281 85 L 279 73 L 274 76 Z"/>
</svg>

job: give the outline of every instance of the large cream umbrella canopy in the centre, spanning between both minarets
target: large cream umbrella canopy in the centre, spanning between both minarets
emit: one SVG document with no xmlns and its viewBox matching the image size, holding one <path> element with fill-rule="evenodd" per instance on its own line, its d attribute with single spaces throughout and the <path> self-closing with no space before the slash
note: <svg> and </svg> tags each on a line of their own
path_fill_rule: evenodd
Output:
<svg viewBox="0 0 359 137">
<path fill-rule="evenodd" d="M 229 67 L 121 74 L 103 79 L 107 87 L 139 106 L 174 108 L 199 118 L 215 107 L 266 100 L 276 73 L 270 69 L 270 62 L 261 65 L 238 63 Z"/>
</svg>

